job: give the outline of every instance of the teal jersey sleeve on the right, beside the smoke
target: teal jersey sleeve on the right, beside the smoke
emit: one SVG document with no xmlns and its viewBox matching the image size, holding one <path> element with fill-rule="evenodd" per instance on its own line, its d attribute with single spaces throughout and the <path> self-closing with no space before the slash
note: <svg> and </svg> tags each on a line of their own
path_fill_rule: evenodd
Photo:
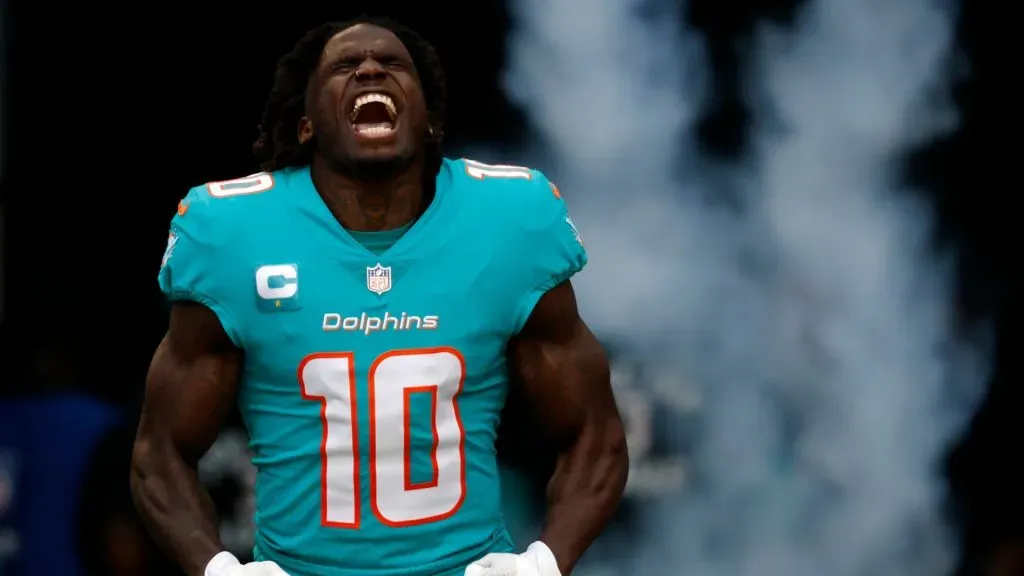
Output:
<svg viewBox="0 0 1024 576">
<path fill-rule="evenodd" d="M 513 333 L 522 330 L 541 296 L 587 265 L 587 250 L 561 193 L 542 172 L 531 173 L 521 218 L 526 223 L 522 255 L 529 283 L 516 306 Z"/>
</svg>

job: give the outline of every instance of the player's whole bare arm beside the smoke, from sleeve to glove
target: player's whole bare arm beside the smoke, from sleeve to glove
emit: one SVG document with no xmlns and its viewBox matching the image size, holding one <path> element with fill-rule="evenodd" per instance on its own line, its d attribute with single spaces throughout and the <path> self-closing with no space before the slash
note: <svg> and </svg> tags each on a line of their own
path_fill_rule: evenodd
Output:
<svg viewBox="0 0 1024 576">
<path fill-rule="evenodd" d="M 545 294 L 510 343 L 526 400 L 558 451 L 541 540 L 563 575 L 611 518 L 629 474 L 604 348 L 566 282 Z"/>
</svg>

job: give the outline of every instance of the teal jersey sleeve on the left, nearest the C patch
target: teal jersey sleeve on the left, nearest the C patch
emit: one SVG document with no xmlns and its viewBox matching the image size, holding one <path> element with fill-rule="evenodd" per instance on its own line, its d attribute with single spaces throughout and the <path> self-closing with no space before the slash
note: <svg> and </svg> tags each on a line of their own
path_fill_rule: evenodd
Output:
<svg viewBox="0 0 1024 576">
<path fill-rule="evenodd" d="M 226 242 L 230 222 L 216 208 L 206 187 L 191 189 L 181 200 L 171 219 L 158 281 L 171 301 L 198 302 L 213 311 L 231 341 L 241 347 L 241 327 L 227 305 L 230 287 L 224 278 L 231 268 Z"/>
</svg>

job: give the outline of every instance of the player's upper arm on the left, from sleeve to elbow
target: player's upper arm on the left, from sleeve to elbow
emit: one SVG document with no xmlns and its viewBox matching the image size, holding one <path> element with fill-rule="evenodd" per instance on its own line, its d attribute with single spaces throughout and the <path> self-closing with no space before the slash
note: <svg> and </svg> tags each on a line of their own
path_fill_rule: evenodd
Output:
<svg viewBox="0 0 1024 576">
<path fill-rule="evenodd" d="M 199 459 L 234 402 L 241 366 L 242 352 L 212 311 L 175 303 L 146 375 L 139 440 L 168 442 Z"/>
</svg>

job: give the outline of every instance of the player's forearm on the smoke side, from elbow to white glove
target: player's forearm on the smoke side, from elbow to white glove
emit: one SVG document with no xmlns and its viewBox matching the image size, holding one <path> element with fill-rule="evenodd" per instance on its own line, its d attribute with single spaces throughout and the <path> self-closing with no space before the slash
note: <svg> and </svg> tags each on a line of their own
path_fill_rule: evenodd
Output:
<svg viewBox="0 0 1024 576">
<path fill-rule="evenodd" d="M 583 428 L 558 458 L 548 484 L 541 540 L 566 575 L 618 507 L 629 475 L 626 435 L 618 418 Z"/>
</svg>

